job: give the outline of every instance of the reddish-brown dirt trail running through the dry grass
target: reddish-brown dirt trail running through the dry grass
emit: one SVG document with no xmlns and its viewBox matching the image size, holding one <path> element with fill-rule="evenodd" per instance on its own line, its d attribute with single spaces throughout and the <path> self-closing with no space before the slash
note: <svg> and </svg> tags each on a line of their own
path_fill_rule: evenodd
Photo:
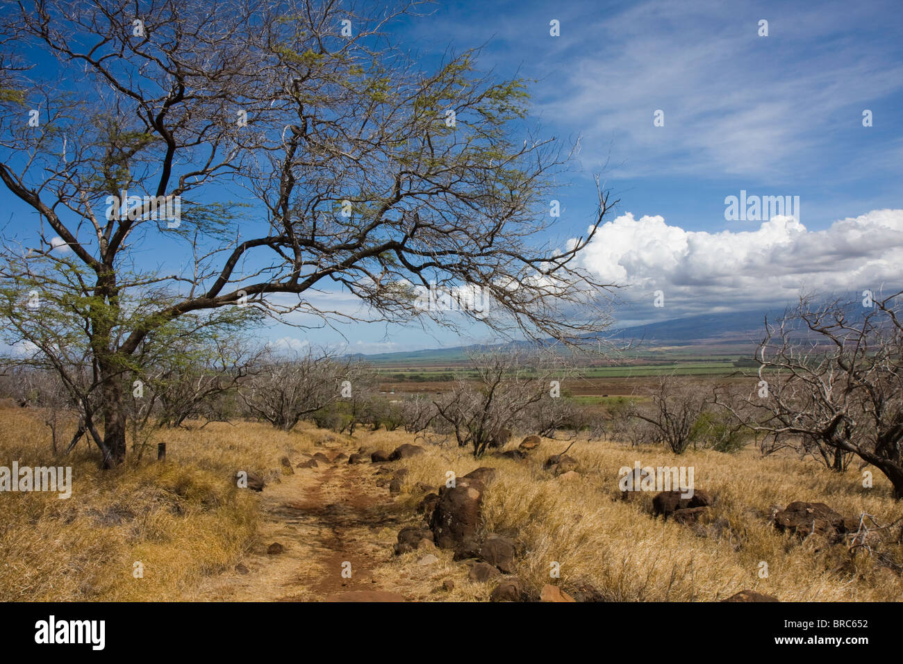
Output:
<svg viewBox="0 0 903 664">
<path fill-rule="evenodd" d="M 319 449 L 330 459 L 357 451 L 344 444 Z M 396 504 L 387 488 L 377 487 L 376 467 L 370 463 L 352 465 L 347 457 L 318 463 L 318 468 L 296 468 L 293 475 L 283 475 L 281 483 L 267 484 L 259 545 L 242 562 L 247 572 L 211 577 L 199 588 L 198 599 L 371 602 L 405 598 L 398 579 L 377 578 L 373 569 L 393 557 L 398 524 L 409 513 Z M 273 543 L 283 545 L 284 552 L 268 554 L 267 547 Z M 350 578 L 342 575 L 346 563 L 350 563 Z"/>
</svg>

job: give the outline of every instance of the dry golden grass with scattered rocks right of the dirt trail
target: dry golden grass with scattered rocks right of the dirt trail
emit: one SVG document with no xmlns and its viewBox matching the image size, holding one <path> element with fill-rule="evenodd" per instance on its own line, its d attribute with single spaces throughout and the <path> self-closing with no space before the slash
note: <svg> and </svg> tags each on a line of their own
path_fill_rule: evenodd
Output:
<svg viewBox="0 0 903 664">
<path fill-rule="evenodd" d="M 409 437 L 385 432 L 371 435 L 369 444 L 385 449 Z M 526 462 L 485 456 L 479 463 L 466 451 L 428 448 L 428 453 L 404 462 L 410 469 L 406 491 L 416 482 L 442 484 L 445 473 L 458 476 L 479 465 L 498 469 L 483 506 L 484 528 L 515 538 L 524 548 L 517 575 L 538 593 L 546 583 L 565 590 L 583 583 L 595 586 L 611 601 L 715 601 L 744 588 L 776 595 L 781 601 L 898 601 L 903 577 L 865 553 L 852 558 L 843 545 L 827 547 L 810 539 L 802 544 L 778 533 L 768 523 L 768 508 L 793 500 L 827 503 L 842 515 L 868 512 L 882 522 L 899 519 L 903 504 L 890 497 L 889 482 L 875 472 L 875 486 L 864 489 L 861 475 L 842 476 L 814 462 L 795 458 L 759 458 L 753 450 L 740 454 L 688 452 L 681 456 L 661 449 L 641 449 L 612 443 L 578 443 L 569 455 L 581 463 L 574 482 L 553 478 L 542 470 L 549 454 L 566 444 L 545 440 Z M 638 500 L 616 500 L 619 469 L 642 465 L 694 466 L 695 486 L 716 497 L 712 518 L 728 519 L 721 537 L 697 537 L 692 528 L 653 519 L 653 492 Z M 422 494 L 406 494 L 411 506 Z M 405 494 L 403 494 L 405 498 Z M 895 533 L 898 529 L 895 528 Z M 885 546 L 899 565 L 903 547 Z M 417 552 L 399 556 L 383 570 L 397 574 L 410 569 Z M 768 577 L 759 565 L 768 563 Z M 455 580 L 451 594 L 435 599 L 478 600 L 492 584 L 470 584 L 465 567 L 442 552 L 442 566 L 424 578 L 422 592 L 444 578 Z M 560 564 L 561 579 L 550 578 L 551 564 Z"/>
</svg>

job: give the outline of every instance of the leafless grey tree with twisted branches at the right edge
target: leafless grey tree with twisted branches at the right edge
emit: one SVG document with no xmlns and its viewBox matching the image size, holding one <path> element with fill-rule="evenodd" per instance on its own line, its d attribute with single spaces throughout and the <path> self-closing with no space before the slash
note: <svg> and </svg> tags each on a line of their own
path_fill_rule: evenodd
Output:
<svg viewBox="0 0 903 664">
<path fill-rule="evenodd" d="M 749 428 L 796 437 L 842 472 L 855 454 L 887 476 L 903 499 L 903 324 L 901 293 L 845 303 L 800 298 L 759 345 L 759 389 L 750 417 L 721 402 Z"/>
</svg>

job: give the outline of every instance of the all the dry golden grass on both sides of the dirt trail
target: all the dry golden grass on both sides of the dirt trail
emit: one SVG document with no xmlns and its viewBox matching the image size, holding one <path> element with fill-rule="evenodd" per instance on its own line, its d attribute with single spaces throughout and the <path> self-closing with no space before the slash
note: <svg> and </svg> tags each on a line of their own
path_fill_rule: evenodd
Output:
<svg viewBox="0 0 903 664">
<path fill-rule="evenodd" d="M 49 434 L 35 414 L 0 410 L 0 432 L 0 465 L 16 459 L 51 463 Z M 260 544 L 260 497 L 238 490 L 235 472 L 260 472 L 275 482 L 282 473 L 281 456 L 296 460 L 301 452 L 313 452 L 322 438 L 347 442 L 347 452 L 358 444 L 372 451 L 416 442 L 397 431 L 360 431 L 352 441 L 311 426 L 284 434 L 264 425 L 215 424 L 161 431 L 157 439 L 168 444 L 166 463 L 145 461 L 114 472 L 98 471 L 94 455 L 82 444 L 56 463 L 73 466 L 69 500 L 55 493 L 0 494 L 0 600 L 197 599 L 202 582 L 228 572 Z M 393 513 L 410 515 L 414 524 L 420 519 L 414 506 L 424 494 L 415 488 L 417 482 L 438 486 L 448 471 L 461 476 L 481 465 L 495 467 L 498 479 L 485 497 L 483 528 L 517 540 L 523 549 L 517 575 L 534 592 L 554 583 L 564 590 L 591 584 L 612 601 L 715 601 L 743 588 L 782 601 L 903 597 L 903 577 L 874 556 L 851 557 L 846 547 L 815 539 L 800 544 L 768 523 L 770 505 L 786 507 L 793 500 L 822 501 L 844 516 L 865 511 L 883 522 L 898 519 L 903 505 L 890 498 L 889 484 L 879 473 L 875 487 L 864 489 L 854 470 L 838 476 L 814 462 L 761 459 L 753 450 L 675 456 L 661 449 L 581 442 L 568 453 L 581 463 L 580 477 L 565 482 L 542 470 L 549 454 L 563 450 L 561 442 L 545 440 L 520 463 L 494 455 L 478 462 L 457 447 L 424 446 L 426 454 L 393 464 L 409 469 Z M 721 536 L 697 537 L 692 528 L 653 519 L 651 492 L 616 500 L 619 468 L 633 467 L 635 461 L 694 466 L 696 488 L 717 499 L 712 517 L 728 519 L 731 528 Z M 376 482 L 369 464 L 344 466 L 341 472 L 351 478 L 343 491 L 359 493 L 354 482 Z M 391 500 L 387 491 L 385 500 Z M 361 533 L 368 531 L 368 524 L 358 525 Z M 380 587 L 427 601 L 488 598 L 494 584 L 471 584 L 468 567 L 452 562 L 450 551 L 433 552 L 439 561 L 428 566 L 417 565 L 423 551 L 391 556 L 388 547 L 397 528 L 368 535 L 386 547 L 386 562 L 372 570 Z M 903 563 L 900 545 L 883 550 Z M 132 575 L 139 560 L 144 564 L 140 580 Z M 763 561 L 767 578 L 759 577 Z M 553 562 L 560 565 L 560 581 L 550 578 Z M 442 590 L 446 579 L 455 582 L 451 592 Z"/>
</svg>

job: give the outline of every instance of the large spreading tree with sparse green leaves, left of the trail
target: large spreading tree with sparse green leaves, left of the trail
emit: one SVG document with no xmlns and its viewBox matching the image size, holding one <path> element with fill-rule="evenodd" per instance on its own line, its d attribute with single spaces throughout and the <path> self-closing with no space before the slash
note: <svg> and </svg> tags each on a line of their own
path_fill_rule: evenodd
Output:
<svg viewBox="0 0 903 664">
<path fill-rule="evenodd" d="M 126 455 L 124 374 L 182 317 L 226 324 L 222 310 L 243 304 L 311 324 L 358 316 L 316 304 L 330 286 L 368 320 L 477 320 L 566 342 L 609 323 L 610 285 L 573 260 L 607 196 L 581 238 L 543 233 L 570 153 L 535 136 L 523 81 L 480 76 L 477 52 L 424 72 L 393 48 L 389 28 L 415 5 L 5 9 L 0 181 L 36 221 L 6 229 L 0 315 L 7 339 L 54 369 L 63 341 L 86 351 L 98 409 L 84 416 L 104 467 Z M 47 61 L 29 69 L 35 52 Z M 178 258 L 151 264 L 148 243 Z M 416 304 L 434 288 L 479 289 L 491 306 Z"/>
</svg>

